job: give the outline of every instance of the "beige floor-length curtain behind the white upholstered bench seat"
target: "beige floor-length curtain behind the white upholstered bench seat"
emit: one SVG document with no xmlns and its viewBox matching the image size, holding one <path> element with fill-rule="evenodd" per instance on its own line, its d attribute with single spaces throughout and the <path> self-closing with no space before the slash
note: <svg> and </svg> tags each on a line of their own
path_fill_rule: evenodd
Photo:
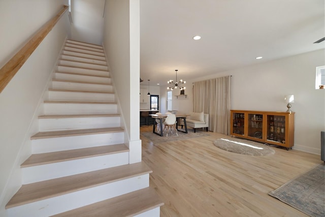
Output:
<svg viewBox="0 0 325 217">
<path fill-rule="evenodd" d="M 230 134 L 230 78 L 215 78 L 193 83 L 193 112 L 209 114 L 209 130 Z"/>
</svg>

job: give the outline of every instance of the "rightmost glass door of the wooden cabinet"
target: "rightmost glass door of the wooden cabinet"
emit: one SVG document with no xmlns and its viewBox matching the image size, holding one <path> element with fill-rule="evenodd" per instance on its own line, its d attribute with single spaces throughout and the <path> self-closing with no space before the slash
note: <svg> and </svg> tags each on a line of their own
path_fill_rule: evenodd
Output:
<svg viewBox="0 0 325 217">
<path fill-rule="evenodd" d="M 267 139 L 285 143 L 285 116 L 268 115 Z"/>
</svg>

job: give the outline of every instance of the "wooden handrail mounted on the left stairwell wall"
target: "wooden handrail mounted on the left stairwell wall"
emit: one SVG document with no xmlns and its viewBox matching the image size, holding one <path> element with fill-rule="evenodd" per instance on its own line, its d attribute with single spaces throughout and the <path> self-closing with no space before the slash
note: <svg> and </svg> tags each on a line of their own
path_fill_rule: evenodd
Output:
<svg viewBox="0 0 325 217">
<path fill-rule="evenodd" d="M 43 39 L 52 30 L 61 16 L 68 10 L 69 6 L 64 5 L 60 12 L 49 20 L 6 64 L 0 69 L 0 93 L 5 89 L 10 80 L 24 65 L 28 57 L 41 44 Z"/>
</svg>

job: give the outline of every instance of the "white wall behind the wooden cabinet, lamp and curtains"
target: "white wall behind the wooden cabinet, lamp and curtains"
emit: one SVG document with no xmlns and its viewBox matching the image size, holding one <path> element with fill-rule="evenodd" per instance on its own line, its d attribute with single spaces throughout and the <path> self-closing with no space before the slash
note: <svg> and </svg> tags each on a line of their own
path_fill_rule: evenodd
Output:
<svg viewBox="0 0 325 217">
<path fill-rule="evenodd" d="M 296 112 L 293 148 L 320 154 L 320 131 L 325 130 L 325 90 L 315 89 L 315 72 L 317 66 L 324 65 L 324 49 L 321 49 L 198 77 L 195 81 L 232 75 L 231 107 L 239 110 L 286 111 L 284 96 L 293 94 L 295 103 L 291 110 Z M 189 84 L 193 81 L 186 81 L 187 99 L 173 98 L 173 109 L 179 113 L 188 113 L 192 109 L 192 88 Z M 164 100 L 165 87 L 161 87 L 160 95 L 160 99 Z"/>
</svg>

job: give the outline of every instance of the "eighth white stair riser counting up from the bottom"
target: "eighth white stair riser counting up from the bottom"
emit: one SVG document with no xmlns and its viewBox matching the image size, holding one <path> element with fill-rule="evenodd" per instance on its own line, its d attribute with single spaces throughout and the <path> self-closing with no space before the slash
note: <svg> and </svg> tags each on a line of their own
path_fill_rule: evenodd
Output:
<svg viewBox="0 0 325 217">
<path fill-rule="evenodd" d="M 71 89 L 71 90 L 93 90 L 93 91 L 114 91 L 110 84 L 87 84 L 66 81 L 52 81 L 53 89 Z"/>
</svg>

